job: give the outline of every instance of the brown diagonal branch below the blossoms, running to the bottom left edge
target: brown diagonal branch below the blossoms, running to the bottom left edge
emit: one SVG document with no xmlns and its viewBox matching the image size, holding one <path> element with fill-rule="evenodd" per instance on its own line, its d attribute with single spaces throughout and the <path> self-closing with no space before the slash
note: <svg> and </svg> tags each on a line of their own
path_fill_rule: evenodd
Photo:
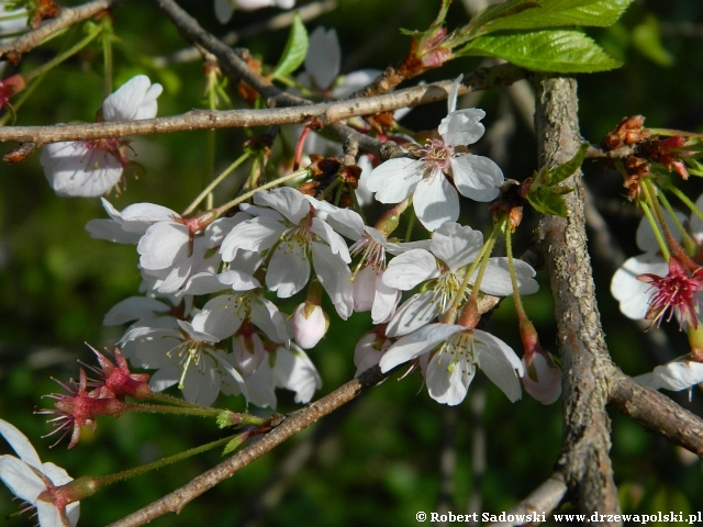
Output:
<svg viewBox="0 0 703 527">
<path fill-rule="evenodd" d="M 230 459 L 202 473 L 180 489 L 167 494 L 163 498 L 136 511 L 135 513 L 110 524 L 111 527 L 127 527 L 144 525 L 166 513 L 178 513 L 189 502 L 200 494 L 212 489 L 221 481 L 232 476 L 235 472 L 249 464 L 274 449 L 289 437 L 306 428 L 321 417 L 332 413 L 343 404 L 348 403 L 364 391 L 375 386 L 388 373 L 381 373 L 380 368 L 373 367 L 366 370 L 356 379 L 347 382 L 320 401 L 309 404 L 300 412 L 289 415 L 283 422 L 274 428 L 258 441 L 249 445 Z"/>
</svg>

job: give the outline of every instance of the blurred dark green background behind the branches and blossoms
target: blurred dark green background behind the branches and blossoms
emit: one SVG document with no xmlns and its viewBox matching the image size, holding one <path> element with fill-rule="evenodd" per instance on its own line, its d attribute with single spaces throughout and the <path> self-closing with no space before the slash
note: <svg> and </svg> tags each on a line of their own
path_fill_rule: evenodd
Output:
<svg viewBox="0 0 703 527">
<path fill-rule="evenodd" d="M 477 3 L 456 1 L 449 27 L 466 23 L 467 7 L 475 9 Z M 312 31 L 322 24 L 336 29 L 343 74 L 361 67 L 384 68 L 408 51 L 409 38 L 399 27 L 427 27 L 438 4 L 429 0 L 338 0 L 336 9 L 309 21 L 306 27 Z M 250 29 L 278 14 L 274 9 L 236 12 L 222 26 L 214 19 L 211 1 L 190 0 L 181 5 L 217 35 Z M 155 66 L 154 57 L 169 56 L 186 46 L 154 3 L 125 2 L 114 12 L 114 30 L 119 38 L 114 45 L 115 87 L 136 74 L 146 74 L 165 88 L 158 101 L 159 115 L 205 108 L 199 60 Z M 634 114 L 647 116 L 649 126 L 703 132 L 703 3 L 637 1 L 615 26 L 590 34 L 625 61 L 625 67 L 578 77 L 581 132 L 588 141 L 600 141 L 621 117 Z M 27 54 L 19 71 L 43 64 L 80 35 L 80 30 L 69 31 Z M 283 29 L 248 36 L 238 45 L 272 65 L 286 37 Z M 450 61 L 423 79 L 453 78 L 481 64 L 480 59 Z M 2 77 L 14 71 L 5 67 Z M 49 74 L 19 110 L 16 124 L 92 121 L 101 104 L 102 83 L 102 54 L 96 44 Z M 522 89 L 524 93 L 526 85 Z M 232 91 L 231 96 L 239 106 Z M 499 89 L 471 96 L 460 104 L 487 110 L 488 133 L 476 152 L 496 159 L 506 177 L 523 180 L 535 169 L 536 143 L 528 121 L 521 116 L 528 105 L 517 101 L 514 91 Z M 429 130 L 445 114 L 446 105 L 435 104 L 415 109 L 402 123 L 413 130 Z M 205 135 L 190 132 L 134 139 L 144 173 L 138 179 L 127 175 L 126 191 L 109 197 L 112 204 L 122 210 L 148 201 L 183 210 L 207 178 Z M 241 155 L 246 137 L 241 130 L 216 133 L 217 170 Z M 9 148 L 4 145 L 3 153 Z M 124 415 L 99 421 L 97 433 L 86 431 L 70 451 L 65 441 L 49 450 L 52 439 L 40 439 L 51 427 L 32 411 L 51 405 L 51 400 L 41 399 L 43 394 L 60 391 L 51 377 L 66 381 L 78 374 L 77 359 L 92 362 L 83 343 L 100 349 L 120 338 L 123 328 L 103 327 L 102 316 L 120 300 L 137 294 L 137 255 L 131 246 L 88 236 L 86 222 L 105 217 L 100 200 L 54 195 L 38 165 L 38 153 L 0 170 L 0 416 L 33 440 L 44 461 L 56 462 L 74 476 L 108 474 L 221 437 L 213 423 L 198 418 Z M 624 254 L 637 254 L 634 229 L 638 216 L 626 201 L 620 176 L 598 165 L 587 165 L 585 171 L 596 208 Z M 695 199 L 700 182 L 691 181 L 687 187 Z M 227 199 L 226 192 L 217 199 Z M 486 205 L 466 209 L 466 221 L 476 228 L 484 225 L 478 222 L 487 217 Z M 533 221 L 527 214 L 516 236 L 518 248 L 527 246 Z M 607 343 L 624 371 L 644 373 L 687 352 L 685 339 L 676 327 L 667 327 L 667 333 L 652 330 L 646 337 L 620 314 L 609 292 L 617 248 L 601 245 L 593 249 Z M 540 292 L 526 298 L 525 303 L 543 345 L 554 350 L 549 290 L 543 273 L 539 279 Z M 288 313 L 295 301 L 300 299 L 286 305 Z M 334 310 L 327 307 L 332 314 Z M 345 324 L 333 317 L 326 338 L 310 352 L 324 381 L 316 397 L 352 379 L 354 347 L 368 327 L 368 313 Z M 492 315 L 488 329 L 520 348 L 511 300 Z M 654 346 L 652 340 L 659 337 L 665 345 Z M 402 382 L 391 378 L 209 491 L 178 517 L 163 517 L 152 525 L 414 525 L 417 511 L 429 513 L 440 506 L 455 514 L 506 511 L 550 474 L 560 449 L 560 404 L 543 406 L 526 394 L 511 404 L 482 374 L 478 377 L 467 401 L 455 408 L 432 401 L 417 373 Z M 703 414 L 699 390 L 691 402 L 685 394 L 672 396 Z M 279 412 L 297 410 L 289 394 L 279 393 Z M 244 407 L 243 400 L 221 399 L 217 404 Z M 623 511 L 699 511 L 701 461 L 617 413 L 611 415 L 612 458 Z M 0 452 L 7 451 L 7 445 L 0 445 Z M 219 452 L 210 452 L 108 487 L 81 504 L 80 523 L 116 520 L 220 460 Z M 443 464 L 450 468 L 444 475 Z M 16 509 L 18 503 L 0 486 L 0 516 Z M 8 523 L 32 524 L 26 515 Z"/>
</svg>

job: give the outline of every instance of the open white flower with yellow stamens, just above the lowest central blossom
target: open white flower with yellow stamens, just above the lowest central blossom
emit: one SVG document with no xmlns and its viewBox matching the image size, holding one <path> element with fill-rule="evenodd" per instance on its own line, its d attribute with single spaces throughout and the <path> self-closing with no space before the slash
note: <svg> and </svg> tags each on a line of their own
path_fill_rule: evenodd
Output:
<svg viewBox="0 0 703 527">
<path fill-rule="evenodd" d="M 412 249 L 397 256 L 388 265 L 383 283 L 409 291 L 415 285 L 433 280 L 432 288 L 414 294 L 395 312 L 388 324 L 387 335 L 406 335 L 445 313 L 454 303 L 468 271 L 467 266 L 479 255 L 483 235 L 469 226 L 445 223 L 433 235 L 429 250 Z M 539 289 L 533 279 L 535 270 L 522 260 L 515 260 L 517 287 L 522 294 Z M 475 276 L 469 283 L 473 283 Z M 480 291 L 494 296 L 507 296 L 513 288 L 506 258 L 490 258 L 481 280 Z"/>
</svg>

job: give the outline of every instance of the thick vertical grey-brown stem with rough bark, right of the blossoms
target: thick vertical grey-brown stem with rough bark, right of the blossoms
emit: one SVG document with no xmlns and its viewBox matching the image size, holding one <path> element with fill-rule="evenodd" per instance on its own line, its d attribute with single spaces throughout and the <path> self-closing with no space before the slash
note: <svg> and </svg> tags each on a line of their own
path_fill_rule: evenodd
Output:
<svg viewBox="0 0 703 527">
<path fill-rule="evenodd" d="M 538 78 L 536 85 L 539 165 L 554 167 L 569 160 L 582 143 L 576 81 Z M 574 192 L 566 195 L 569 217 L 546 216 L 537 227 L 555 299 L 563 363 L 565 428 L 559 464 L 582 513 L 614 514 L 620 504 L 609 458 L 610 418 L 605 412 L 611 360 L 585 245 L 581 172 L 566 184 L 576 187 Z"/>
</svg>

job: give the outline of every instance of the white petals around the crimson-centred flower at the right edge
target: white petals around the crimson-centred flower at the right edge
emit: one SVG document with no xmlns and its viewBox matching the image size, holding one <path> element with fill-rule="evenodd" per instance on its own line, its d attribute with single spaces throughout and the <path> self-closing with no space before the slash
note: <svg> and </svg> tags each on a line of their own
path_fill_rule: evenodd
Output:
<svg viewBox="0 0 703 527">
<path fill-rule="evenodd" d="M 703 194 L 699 197 L 695 206 L 703 208 Z M 667 226 L 677 242 L 681 240 L 681 235 L 669 214 L 665 214 Z M 685 216 L 677 213 L 680 222 L 685 222 Z M 691 214 L 689 228 L 693 237 L 701 243 L 703 239 L 703 222 L 696 214 Z M 643 217 L 637 227 L 637 247 L 645 253 L 633 258 L 628 258 L 625 264 L 613 274 L 611 281 L 611 293 L 620 302 L 620 311 L 634 321 L 644 319 L 649 307 L 649 296 L 651 284 L 637 280 L 640 274 L 667 276 L 669 266 L 661 256 L 659 244 L 651 229 L 651 225 L 646 217 Z"/>
</svg>

